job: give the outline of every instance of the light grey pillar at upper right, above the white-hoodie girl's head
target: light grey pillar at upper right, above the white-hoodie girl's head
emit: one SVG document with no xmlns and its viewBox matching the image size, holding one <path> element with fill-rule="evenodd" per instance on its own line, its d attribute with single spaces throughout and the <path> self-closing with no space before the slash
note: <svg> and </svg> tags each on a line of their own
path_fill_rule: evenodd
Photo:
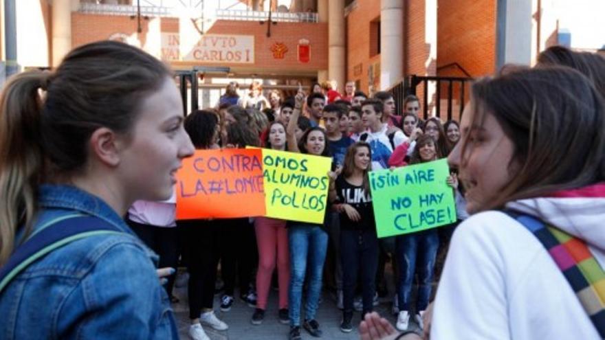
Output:
<svg viewBox="0 0 605 340">
<path fill-rule="evenodd" d="M 498 0 L 496 69 L 505 64 L 531 64 L 532 1 Z"/>
</svg>

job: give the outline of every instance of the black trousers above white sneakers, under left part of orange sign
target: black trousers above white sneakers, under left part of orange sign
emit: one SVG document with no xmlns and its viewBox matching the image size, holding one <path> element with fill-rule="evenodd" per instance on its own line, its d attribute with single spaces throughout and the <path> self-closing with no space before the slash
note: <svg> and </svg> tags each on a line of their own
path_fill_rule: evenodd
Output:
<svg viewBox="0 0 605 340">
<path fill-rule="evenodd" d="M 184 236 L 183 252 L 189 272 L 189 318 L 197 319 L 203 308 L 212 308 L 221 253 L 221 225 L 219 220 L 183 220 L 177 223 Z"/>
</svg>

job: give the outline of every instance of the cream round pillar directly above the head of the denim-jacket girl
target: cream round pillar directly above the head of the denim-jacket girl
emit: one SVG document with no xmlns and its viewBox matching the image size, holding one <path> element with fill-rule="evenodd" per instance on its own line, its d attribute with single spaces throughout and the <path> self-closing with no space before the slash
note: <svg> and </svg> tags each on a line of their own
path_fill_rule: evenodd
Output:
<svg viewBox="0 0 605 340">
<path fill-rule="evenodd" d="M 52 1 L 52 66 L 57 67 L 72 49 L 72 2 Z"/>
</svg>

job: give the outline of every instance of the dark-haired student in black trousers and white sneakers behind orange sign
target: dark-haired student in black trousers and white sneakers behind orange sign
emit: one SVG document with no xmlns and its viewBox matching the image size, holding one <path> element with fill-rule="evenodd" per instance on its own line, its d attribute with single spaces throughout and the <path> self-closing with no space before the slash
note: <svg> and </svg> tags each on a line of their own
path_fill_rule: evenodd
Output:
<svg viewBox="0 0 605 340">
<path fill-rule="evenodd" d="M 185 119 L 187 131 L 196 149 L 218 149 L 219 120 L 212 111 L 193 111 Z M 187 258 L 189 283 L 189 337 L 194 340 L 209 339 L 201 324 L 215 330 L 227 330 L 212 309 L 214 281 L 221 256 L 221 228 L 219 220 L 179 220 L 183 235 L 183 252 Z"/>
</svg>

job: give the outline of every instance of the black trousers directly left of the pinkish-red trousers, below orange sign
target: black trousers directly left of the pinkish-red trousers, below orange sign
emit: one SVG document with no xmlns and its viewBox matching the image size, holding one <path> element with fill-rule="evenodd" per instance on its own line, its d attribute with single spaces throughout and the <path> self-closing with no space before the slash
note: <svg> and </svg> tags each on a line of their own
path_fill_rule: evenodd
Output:
<svg viewBox="0 0 605 340">
<path fill-rule="evenodd" d="M 239 293 L 248 293 L 254 267 L 259 260 L 256 249 L 254 226 L 248 218 L 219 220 L 221 234 L 221 277 L 225 283 L 225 295 L 232 295 L 235 280 Z"/>
</svg>

